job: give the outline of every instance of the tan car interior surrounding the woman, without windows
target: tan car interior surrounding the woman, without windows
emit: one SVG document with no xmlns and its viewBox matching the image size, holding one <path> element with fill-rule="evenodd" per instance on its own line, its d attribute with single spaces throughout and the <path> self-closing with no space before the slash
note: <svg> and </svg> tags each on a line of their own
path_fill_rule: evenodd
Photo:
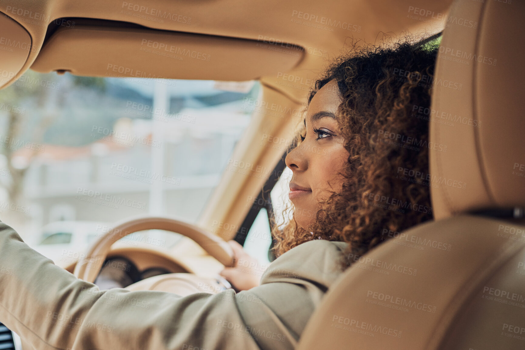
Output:
<svg viewBox="0 0 525 350">
<path fill-rule="evenodd" d="M 430 141 L 448 145 L 447 152 L 430 153 L 430 173 L 468 185 L 431 188 L 434 220 L 356 257 L 324 296 L 297 348 L 525 348 L 523 2 L 2 0 L 0 13 L 1 89 L 29 70 L 215 80 L 238 89 L 259 84 L 258 96 L 245 98 L 253 113 L 228 156 L 231 170 L 220 174 L 196 220 L 176 213 L 119 218 L 98 225 L 85 250 L 55 261 L 101 288 L 179 295 L 231 288 L 218 277 L 233 265 L 226 241 L 246 247 L 261 213 L 265 225 L 274 225 L 279 206 L 269 193 L 286 181 L 283 156 L 302 123 L 307 94 L 334 58 L 385 35 L 439 37 L 432 110 L 482 126 L 429 123 Z M 152 238 L 141 235 L 144 230 L 172 233 Z M 176 244 L 166 244 L 166 237 Z M 400 241 L 408 239 L 451 249 L 407 249 Z M 275 258 L 267 247 L 264 254 Z M 430 306 L 428 312 L 371 307 L 371 291 Z M 386 332 L 354 327 L 363 322 Z M 0 349 L 21 348 L 30 347 L 0 325 Z"/>
</svg>

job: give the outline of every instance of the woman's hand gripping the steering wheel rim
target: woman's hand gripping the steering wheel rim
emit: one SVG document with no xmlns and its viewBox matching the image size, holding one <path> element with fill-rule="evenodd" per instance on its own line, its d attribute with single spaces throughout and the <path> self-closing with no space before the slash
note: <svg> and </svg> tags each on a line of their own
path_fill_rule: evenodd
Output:
<svg viewBox="0 0 525 350">
<path fill-rule="evenodd" d="M 261 275 L 267 266 L 262 266 L 259 261 L 246 253 L 239 243 L 228 241 L 234 252 L 234 267 L 225 268 L 220 272 L 228 282 L 238 291 L 245 291 L 260 284 Z"/>
</svg>

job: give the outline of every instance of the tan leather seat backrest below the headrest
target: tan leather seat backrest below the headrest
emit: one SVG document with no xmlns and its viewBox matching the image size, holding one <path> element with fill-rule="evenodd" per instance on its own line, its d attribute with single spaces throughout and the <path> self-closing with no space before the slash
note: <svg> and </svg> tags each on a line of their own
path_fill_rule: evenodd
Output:
<svg viewBox="0 0 525 350">
<path fill-rule="evenodd" d="M 345 272 L 298 349 L 523 349 L 524 232 L 472 216 L 403 232 Z"/>
</svg>

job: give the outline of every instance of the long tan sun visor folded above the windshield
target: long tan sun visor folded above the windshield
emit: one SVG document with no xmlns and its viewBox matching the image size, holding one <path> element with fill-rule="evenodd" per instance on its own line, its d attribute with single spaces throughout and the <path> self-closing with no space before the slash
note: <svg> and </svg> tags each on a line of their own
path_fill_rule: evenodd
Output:
<svg viewBox="0 0 525 350">
<path fill-rule="evenodd" d="M 303 55 L 291 44 L 77 25 L 55 31 L 31 69 L 91 77 L 245 81 L 289 71 Z"/>
</svg>

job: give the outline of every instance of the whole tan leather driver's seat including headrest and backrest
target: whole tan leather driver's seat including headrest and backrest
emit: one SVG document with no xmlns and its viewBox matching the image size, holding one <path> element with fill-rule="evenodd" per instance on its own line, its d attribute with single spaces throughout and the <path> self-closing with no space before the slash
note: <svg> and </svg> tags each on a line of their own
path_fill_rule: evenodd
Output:
<svg viewBox="0 0 525 350">
<path fill-rule="evenodd" d="M 436 221 L 355 257 L 299 350 L 525 348 L 525 226 L 468 215 L 525 205 L 525 4 L 460 0 L 449 18 L 429 125 L 447 145 L 430 173 L 452 182 L 433 189 Z"/>
</svg>

